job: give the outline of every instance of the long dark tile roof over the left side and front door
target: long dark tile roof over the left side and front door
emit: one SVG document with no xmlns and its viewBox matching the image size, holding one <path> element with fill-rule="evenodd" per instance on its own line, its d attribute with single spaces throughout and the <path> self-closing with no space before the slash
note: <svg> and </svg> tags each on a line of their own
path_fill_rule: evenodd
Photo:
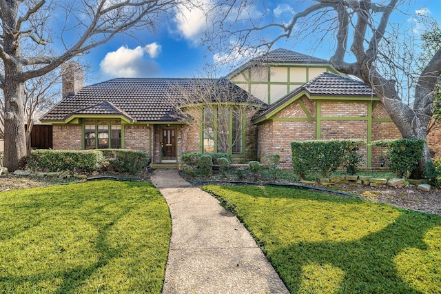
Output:
<svg viewBox="0 0 441 294">
<path fill-rule="evenodd" d="M 111 79 L 84 87 L 76 95 L 65 97 L 41 120 L 65 121 L 74 114 L 121 114 L 136 121 L 179 121 L 174 110 L 176 103 L 172 99 L 181 99 L 185 92 L 197 92 L 216 83 L 241 91 L 226 79 Z M 251 97 L 245 91 L 241 94 L 242 99 Z M 262 104 L 257 99 L 255 101 Z"/>
</svg>

